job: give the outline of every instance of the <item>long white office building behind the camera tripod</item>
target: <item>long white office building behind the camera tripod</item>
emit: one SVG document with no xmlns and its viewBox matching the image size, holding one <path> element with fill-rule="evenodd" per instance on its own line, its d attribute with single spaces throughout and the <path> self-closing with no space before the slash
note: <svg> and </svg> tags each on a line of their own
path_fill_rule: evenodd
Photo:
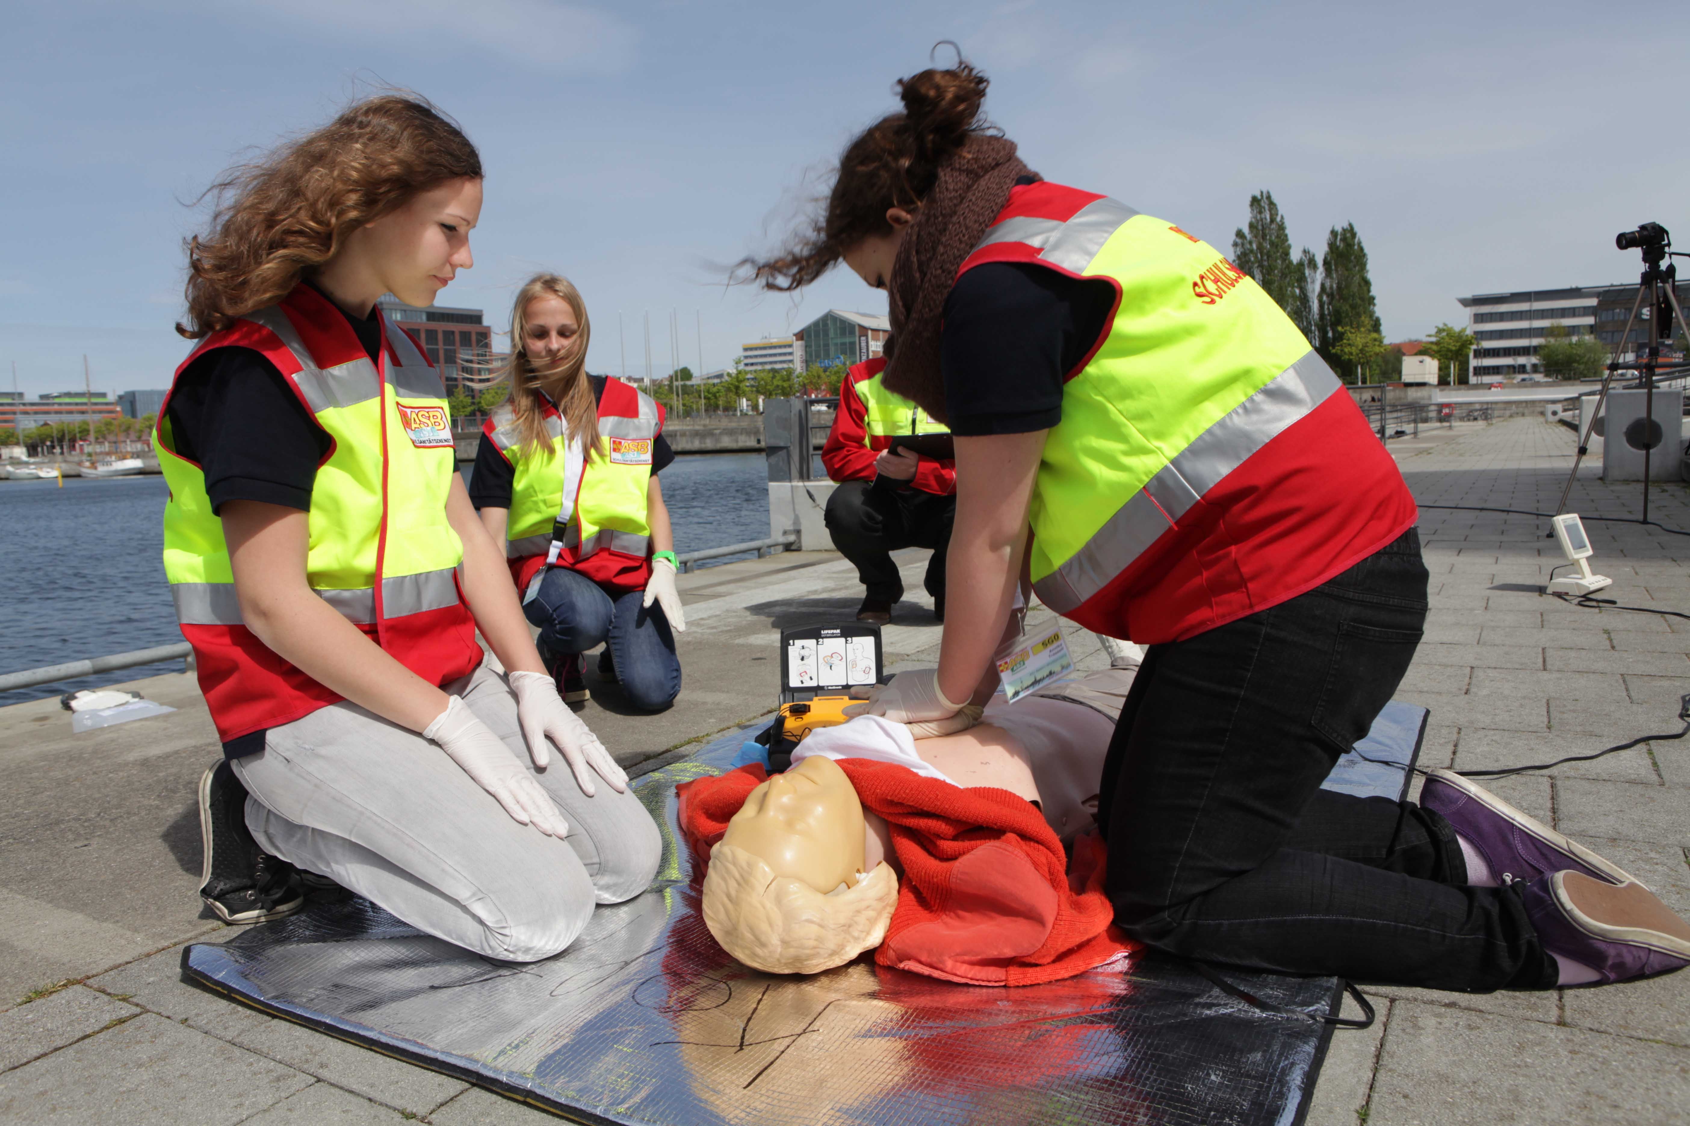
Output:
<svg viewBox="0 0 1690 1126">
<path fill-rule="evenodd" d="M 1575 285 L 1568 289 L 1518 290 L 1457 297 L 1467 309 L 1467 331 L 1477 338 L 1470 356 L 1474 383 L 1506 376 L 1538 375 L 1538 348 L 1551 324 L 1568 336 L 1595 336 L 1612 348 L 1626 329 L 1636 285 Z M 1678 285 L 1680 304 L 1690 300 L 1690 282 Z M 1675 333 L 1682 339 L 1682 328 Z M 1648 321 L 1639 321 L 1622 349 L 1621 361 L 1636 358 L 1636 344 L 1649 339 Z"/>
</svg>

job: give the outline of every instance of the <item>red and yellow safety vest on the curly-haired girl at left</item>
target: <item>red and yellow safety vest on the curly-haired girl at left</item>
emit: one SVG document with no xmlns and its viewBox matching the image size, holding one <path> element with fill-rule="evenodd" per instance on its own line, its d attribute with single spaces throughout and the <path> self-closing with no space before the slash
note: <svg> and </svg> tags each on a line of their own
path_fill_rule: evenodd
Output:
<svg viewBox="0 0 1690 1126">
<path fill-rule="evenodd" d="M 311 486 L 306 582 L 399 663 L 444 684 L 482 660 L 458 582 L 463 544 L 446 522 L 456 473 L 446 390 L 416 341 L 385 317 L 382 333 L 372 363 L 346 317 L 299 285 L 204 338 L 176 378 L 215 348 L 252 348 L 275 365 L 333 439 Z M 226 743 L 340 701 L 243 623 L 223 522 L 199 464 L 174 449 L 169 397 L 154 446 L 171 486 L 164 574 L 218 736 Z"/>
</svg>

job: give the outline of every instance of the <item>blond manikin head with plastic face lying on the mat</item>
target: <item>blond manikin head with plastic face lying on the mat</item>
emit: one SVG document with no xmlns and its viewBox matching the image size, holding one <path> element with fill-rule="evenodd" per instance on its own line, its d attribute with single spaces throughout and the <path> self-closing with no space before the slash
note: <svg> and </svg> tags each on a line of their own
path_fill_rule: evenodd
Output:
<svg viewBox="0 0 1690 1126">
<path fill-rule="evenodd" d="M 843 966 L 886 937 L 889 864 L 864 874 L 862 802 L 830 758 L 806 758 L 750 792 L 705 874 L 705 925 L 728 954 L 772 974 Z"/>
</svg>

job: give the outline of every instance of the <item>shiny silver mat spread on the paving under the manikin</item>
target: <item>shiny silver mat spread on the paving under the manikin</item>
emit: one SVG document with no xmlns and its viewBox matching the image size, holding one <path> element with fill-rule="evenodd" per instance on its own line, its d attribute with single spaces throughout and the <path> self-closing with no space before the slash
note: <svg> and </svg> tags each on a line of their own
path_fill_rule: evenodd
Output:
<svg viewBox="0 0 1690 1126">
<path fill-rule="evenodd" d="M 1425 709 L 1391 704 L 1328 787 L 1401 797 Z M 750 971 L 705 930 L 674 787 L 744 733 L 635 780 L 664 827 L 657 880 L 544 962 L 499 962 L 352 900 L 183 954 L 183 976 L 585 1123 L 1295 1124 L 1338 983 L 1141 954 L 1043 986 L 960 986 L 867 955 L 813 977 Z M 1376 760 L 1376 761 L 1366 761 Z"/>
</svg>

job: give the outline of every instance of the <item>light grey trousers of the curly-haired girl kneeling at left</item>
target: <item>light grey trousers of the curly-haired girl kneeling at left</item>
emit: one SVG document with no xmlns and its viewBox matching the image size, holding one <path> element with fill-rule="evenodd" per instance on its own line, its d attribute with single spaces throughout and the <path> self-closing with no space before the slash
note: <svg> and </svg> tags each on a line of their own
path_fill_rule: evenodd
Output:
<svg viewBox="0 0 1690 1126">
<path fill-rule="evenodd" d="M 534 770 L 502 677 L 483 663 L 444 690 Z M 510 820 L 434 743 L 345 701 L 270 728 L 232 766 L 259 847 L 488 957 L 563 950 L 595 903 L 644 891 L 662 854 L 632 792 L 585 797 L 556 750 L 534 775 L 570 822 L 563 841 Z"/>
</svg>

